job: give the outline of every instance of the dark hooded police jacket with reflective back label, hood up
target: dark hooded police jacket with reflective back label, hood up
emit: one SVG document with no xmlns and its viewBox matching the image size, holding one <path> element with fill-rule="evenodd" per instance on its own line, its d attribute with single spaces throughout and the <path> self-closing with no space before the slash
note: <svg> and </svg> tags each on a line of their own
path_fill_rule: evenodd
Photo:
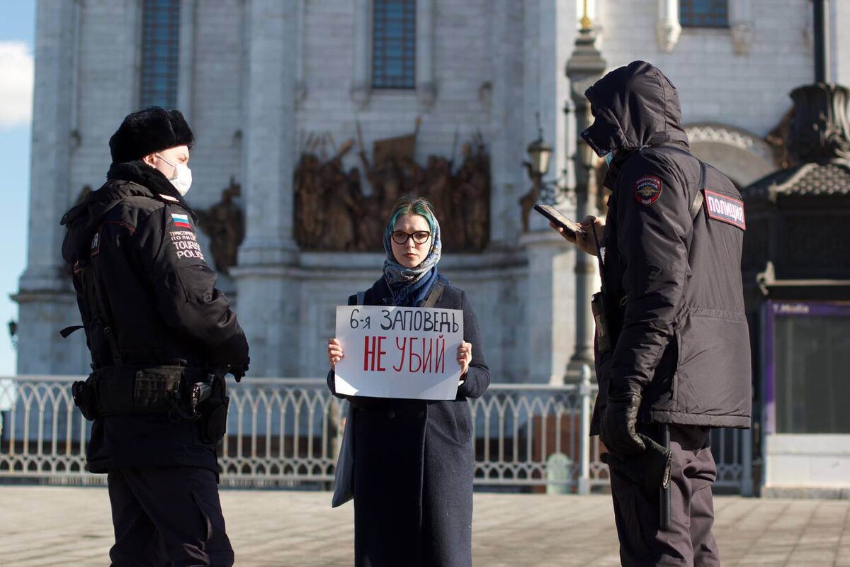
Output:
<svg viewBox="0 0 850 567">
<path fill-rule="evenodd" d="M 626 390 L 643 394 L 643 422 L 750 427 L 740 193 L 708 165 L 700 186 L 676 88 L 653 65 L 611 71 L 585 96 L 595 122 L 582 137 L 600 155 L 615 152 L 603 246 L 616 340 L 597 353 L 592 433 L 608 393 Z"/>
</svg>

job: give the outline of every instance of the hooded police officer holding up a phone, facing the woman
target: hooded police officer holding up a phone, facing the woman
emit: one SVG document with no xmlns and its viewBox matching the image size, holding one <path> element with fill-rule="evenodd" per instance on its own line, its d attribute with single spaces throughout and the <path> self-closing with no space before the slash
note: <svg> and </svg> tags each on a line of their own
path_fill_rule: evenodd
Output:
<svg viewBox="0 0 850 567">
<path fill-rule="evenodd" d="M 690 154 L 676 88 L 653 65 L 615 69 L 585 96 L 581 137 L 609 162 L 613 195 L 606 223 L 588 217 L 568 240 L 604 265 L 592 434 L 609 451 L 621 563 L 719 565 L 709 429 L 751 416 L 743 203 Z"/>
</svg>

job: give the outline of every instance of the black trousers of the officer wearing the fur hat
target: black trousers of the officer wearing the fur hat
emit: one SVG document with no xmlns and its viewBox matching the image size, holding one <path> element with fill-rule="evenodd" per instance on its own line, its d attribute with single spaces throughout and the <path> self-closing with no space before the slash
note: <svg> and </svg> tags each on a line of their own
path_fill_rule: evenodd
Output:
<svg viewBox="0 0 850 567">
<path fill-rule="evenodd" d="M 216 474 L 207 468 L 109 473 L 112 567 L 230 567 Z"/>
</svg>

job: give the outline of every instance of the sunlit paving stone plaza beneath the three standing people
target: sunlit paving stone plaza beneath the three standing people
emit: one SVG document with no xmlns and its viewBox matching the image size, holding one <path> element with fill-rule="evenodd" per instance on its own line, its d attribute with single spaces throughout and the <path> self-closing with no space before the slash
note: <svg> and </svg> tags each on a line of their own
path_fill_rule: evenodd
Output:
<svg viewBox="0 0 850 567">
<path fill-rule="evenodd" d="M 238 567 L 343 567 L 354 507 L 327 492 L 222 490 Z M 717 496 L 723 565 L 850 565 L 850 500 Z M 96 567 L 112 543 L 105 488 L 0 486 L 0 564 Z M 619 565 L 607 495 L 477 493 L 476 567 Z M 399 566 L 403 567 L 403 566 Z"/>
</svg>

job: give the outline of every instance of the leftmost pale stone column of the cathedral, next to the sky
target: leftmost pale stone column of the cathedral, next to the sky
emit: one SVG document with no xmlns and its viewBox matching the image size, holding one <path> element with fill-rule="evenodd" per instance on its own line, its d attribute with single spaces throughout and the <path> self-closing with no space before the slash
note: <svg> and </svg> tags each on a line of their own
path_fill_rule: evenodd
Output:
<svg viewBox="0 0 850 567">
<path fill-rule="evenodd" d="M 59 352 L 58 331 L 74 322 L 68 321 L 74 301 L 62 262 L 65 229 L 59 218 L 71 193 L 75 4 L 37 3 L 29 236 L 26 270 L 14 295 L 21 374 L 62 371 L 57 365 L 69 353 Z"/>
</svg>

